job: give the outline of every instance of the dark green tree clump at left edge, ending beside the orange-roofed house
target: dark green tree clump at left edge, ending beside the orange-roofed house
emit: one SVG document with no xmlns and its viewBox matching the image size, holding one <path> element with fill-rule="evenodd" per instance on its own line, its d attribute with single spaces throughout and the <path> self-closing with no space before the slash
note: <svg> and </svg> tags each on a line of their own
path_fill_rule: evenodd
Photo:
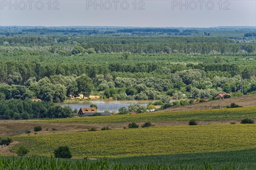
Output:
<svg viewBox="0 0 256 170">
<path fill-rule="evenodd" d="M 38 119 L 72 117 L 70 107 L 61 108 L 52 102 L 33 102 L 32 100 L 0 100 L 0 119 Z"/>
</svg>

